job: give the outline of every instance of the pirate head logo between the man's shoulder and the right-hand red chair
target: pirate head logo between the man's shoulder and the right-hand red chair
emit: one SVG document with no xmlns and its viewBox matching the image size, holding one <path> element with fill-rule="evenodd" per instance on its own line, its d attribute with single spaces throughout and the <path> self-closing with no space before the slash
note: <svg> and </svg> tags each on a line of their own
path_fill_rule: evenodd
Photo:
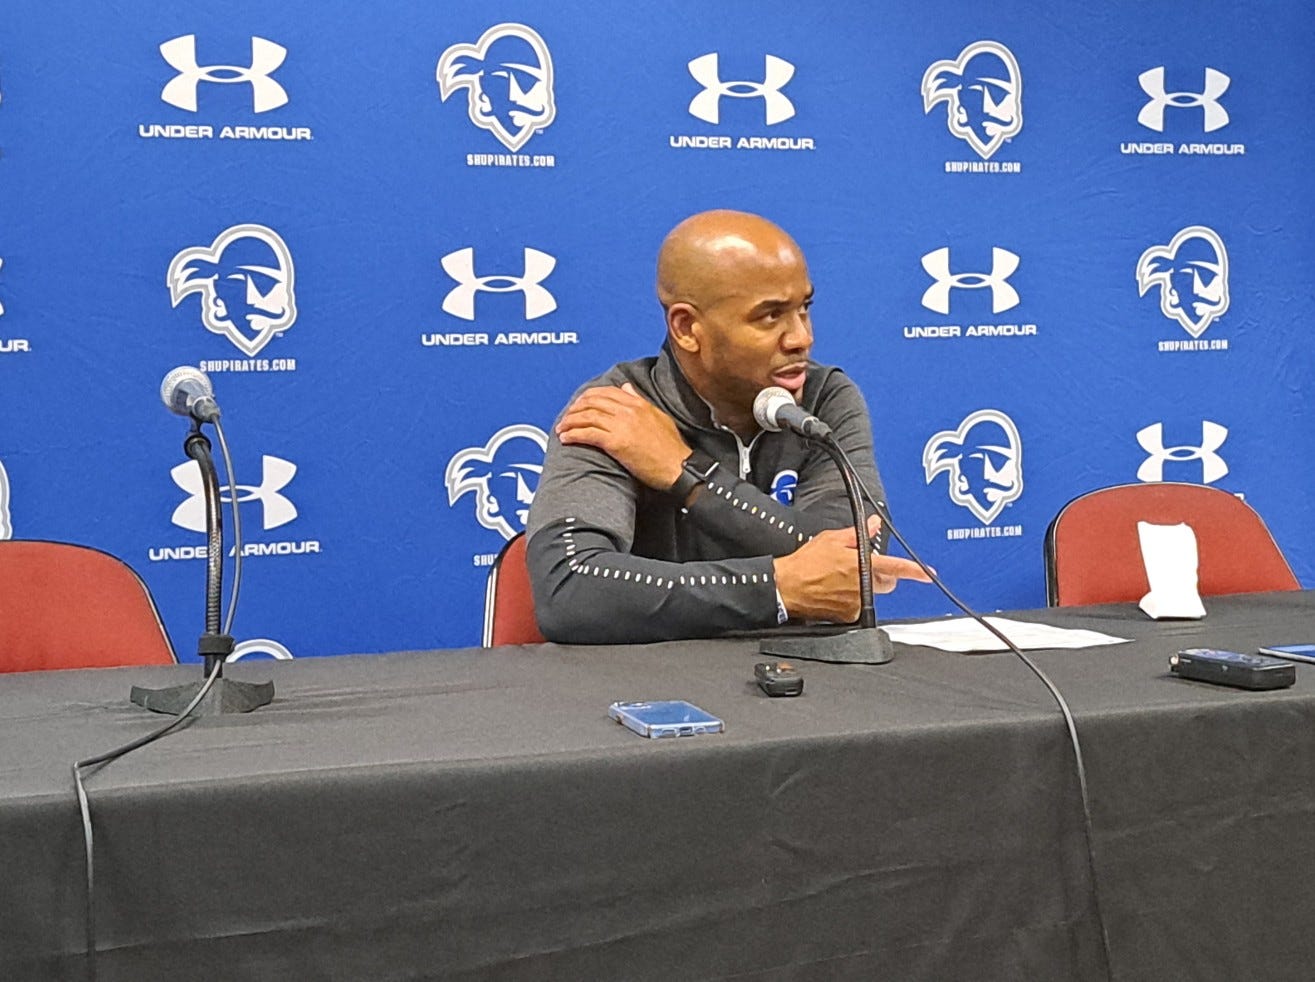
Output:
<svg viewBox="0 0 1315 982">
<path fill-rule="evenodd" d="M 949 500 L 982 525 L 1023 493 L 1023 444 L 1014 421 L 998 409 L 978 409 L 955 430 L 943 430 L 922 451 L 927 484 L 944 471 Z"/>
</svg>

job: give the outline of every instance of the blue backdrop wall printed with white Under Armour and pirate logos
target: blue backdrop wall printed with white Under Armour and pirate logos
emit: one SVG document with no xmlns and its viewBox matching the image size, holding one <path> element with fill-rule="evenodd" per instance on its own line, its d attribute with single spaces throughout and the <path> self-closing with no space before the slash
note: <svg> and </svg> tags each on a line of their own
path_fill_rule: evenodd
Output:
<svg viewBox="0 0 1315 982">
<path fill-rule="evenodd" d="M 200 365 L 238 636 L 477 643 L 543 431 L 656 350 L 661 237 L 729 206 L 805 248 L 815 355 L 968 601 L 1041 605 L 1056 510 L 1135 480 L 1244 494 L 1310 582 L 1312 41 L 1295 0 L 11 3 L 0 535 L 122 556 L 189 653 L 155 393 Z"/>
</svg>

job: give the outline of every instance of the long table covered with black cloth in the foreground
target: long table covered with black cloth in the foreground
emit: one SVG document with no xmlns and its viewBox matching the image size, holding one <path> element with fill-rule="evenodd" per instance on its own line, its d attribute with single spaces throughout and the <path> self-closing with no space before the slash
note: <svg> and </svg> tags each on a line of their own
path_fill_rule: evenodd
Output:
<svg viewBox="0 0 1315 982">
<path fill-rule="evenodd" d="M 1086 755 L 1118 979 L 1315 974 L 1315 668 L 1247 693 L 1180 647 L 1315 640 L 1315 594 L 1018 617 Z M 241 663 L 274 705 L 89 778 L 101 982 L 1101 979 L 1073 753 L 1011 655 L 899 647 L 752 685 L 748 640 Z M 196 665 L 0 676 L 0 979 L 83 978 L 75 759 Z M 644 740 L 614 699 L 718 736 Z"/>
</svg>

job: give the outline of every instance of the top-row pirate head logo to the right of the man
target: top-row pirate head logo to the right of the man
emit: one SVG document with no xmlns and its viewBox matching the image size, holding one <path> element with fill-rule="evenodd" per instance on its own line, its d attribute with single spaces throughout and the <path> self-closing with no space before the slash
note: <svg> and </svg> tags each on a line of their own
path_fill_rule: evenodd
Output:
<svg viewBox="0 0 1315 982">
<path fill-rule="evenodd" d="M 945 125 L 984 160 L 1023 129 L 1023 75 L 1014 53 L 976 41 L 953 60 L 932 62 L 922 76 L 922 108 L 945 104 Z"/>
</svg>

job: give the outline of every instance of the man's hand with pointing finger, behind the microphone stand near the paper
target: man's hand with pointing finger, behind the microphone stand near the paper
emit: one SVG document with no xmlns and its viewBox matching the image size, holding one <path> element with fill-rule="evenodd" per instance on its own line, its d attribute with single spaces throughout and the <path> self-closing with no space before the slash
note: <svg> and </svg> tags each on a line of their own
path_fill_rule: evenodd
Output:
<svg viewBox="0 0 1315 982">
<path fill-rule="evenodd" d="M 868 519 L 868 535 L 880 522 Z M 849 623 L 859 618 L 859 549 L 853 528 L 828 528 L 773 560 L 776 589 L 792 618 Z M 890 593 L 899 580 L 931 582 L 911 559 L 872 556 L 872 592 Z"/>
</svg>

